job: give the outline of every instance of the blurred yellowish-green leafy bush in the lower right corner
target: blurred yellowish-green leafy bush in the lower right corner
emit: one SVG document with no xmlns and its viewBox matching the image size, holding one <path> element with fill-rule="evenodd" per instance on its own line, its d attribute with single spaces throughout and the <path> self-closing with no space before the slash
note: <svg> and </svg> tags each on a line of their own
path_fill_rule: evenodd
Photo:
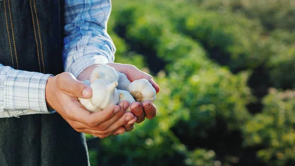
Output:
<svg viewBox="0 0 295 166">
<path fill-rule="evenodd" d="M 260 145 L 258 157 L 268 166 L 295 162 L 295 91 L 270 89 L 263 111 L 244 125 L 245 144 Z"/>
</svg>

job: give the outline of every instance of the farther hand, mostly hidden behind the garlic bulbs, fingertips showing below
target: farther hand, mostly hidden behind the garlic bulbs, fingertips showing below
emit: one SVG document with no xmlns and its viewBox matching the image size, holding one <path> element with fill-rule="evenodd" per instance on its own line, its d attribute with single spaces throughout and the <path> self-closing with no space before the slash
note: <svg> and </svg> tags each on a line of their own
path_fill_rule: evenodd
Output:
<svg viewBox="0 0 295 166">
<path fill-rule="evenodd" d="M 133 65 L 126 65 L 126 64 L 118 64 L 118 63 L 109 63 L 106 64 L 115 68 L 115 70 L 124 73 L 127 78 L 132 82 L 138 79 L 147 79 L 149 83 L 155 88 L 156 93 L 160 91 L 159 85 L 157 85 L 152 76 L 139 70 L 137 67 Z M 148 119 L 152 119 L 156 116 L 156 106 L 149 101 L 144 101 L 143 103 L 140 102 L 133 102 L 130 106 L 131 112 L 137 117 L 136 123 L 141 123 L 145 120 L 145 117 Z M 125 127 L 128 127 L 125 125 Z"/>
</svg>

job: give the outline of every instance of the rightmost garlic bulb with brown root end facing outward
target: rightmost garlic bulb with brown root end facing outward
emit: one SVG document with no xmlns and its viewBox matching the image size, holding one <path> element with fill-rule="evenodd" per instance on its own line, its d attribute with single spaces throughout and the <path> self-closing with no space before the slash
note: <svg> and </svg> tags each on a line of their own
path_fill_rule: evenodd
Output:
<svg viewBox="0 0 295 166">
<path fill-rule="evenodd" d="M 156 90 L 146 79 L 139 79 L 131 82 L 127 91 L 133 96 L 136 101 L 150 101 L 156 100 Z"/>
</svg>

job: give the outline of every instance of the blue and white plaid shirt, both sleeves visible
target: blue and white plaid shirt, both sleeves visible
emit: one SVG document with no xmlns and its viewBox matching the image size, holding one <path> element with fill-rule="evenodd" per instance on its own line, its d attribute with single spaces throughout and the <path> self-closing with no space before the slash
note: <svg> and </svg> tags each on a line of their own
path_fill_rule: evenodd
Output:
<svg viewBox="0 0 295 166">
<path fill-rule="evenodd" d="M 64 69 L 75 77 L 94 63 L 114 62 L 107 33 L 111 0 L 65 0 Z M 48 111 L 45 85 L 50 74 L 15 70 L 0 64 L 0 118 Z"/>
</svg>

